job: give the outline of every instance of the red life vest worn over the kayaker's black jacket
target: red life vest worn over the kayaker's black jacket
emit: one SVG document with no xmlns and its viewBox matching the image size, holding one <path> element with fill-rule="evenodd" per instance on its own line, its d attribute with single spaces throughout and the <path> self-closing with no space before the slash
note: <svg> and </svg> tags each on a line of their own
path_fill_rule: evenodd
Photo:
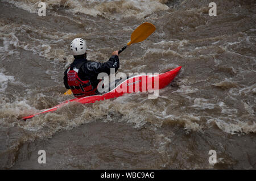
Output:
<svg viewBox="0 0 256 181">
<path fill-rule="evenodd" d="M 68 86 L 76 98 L 81 98 L 81 97 L 89 96 L 89 95 L 95 95 L 96 91 L 97 91 L 97 87 L 95 89 L 93 89 L 93 86 L 90 83 L 89 79 L 82 81 L 79 78 L 79 76 L 78 76 L 79 69 L 81 68 L 81 66 L 83 64 L 85 64 L 85 62 L 83 62 L 82 64 L 80 64 L 78 66 L 74 66 L 73 69 L 71 69 L 71 66 L 70 66 L 67 71 Z"/>
</svg>

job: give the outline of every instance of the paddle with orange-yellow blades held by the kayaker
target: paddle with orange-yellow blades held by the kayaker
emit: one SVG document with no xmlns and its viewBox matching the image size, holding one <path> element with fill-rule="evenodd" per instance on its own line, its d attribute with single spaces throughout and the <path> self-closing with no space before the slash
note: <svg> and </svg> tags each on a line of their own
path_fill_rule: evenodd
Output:
<svg viewBox="0 0 256 181">
<path fill-rule="evenodd" d="M 155 31 L 155 26 L 151 23 L 142 23 L 138 28 L 136 28 L 133 33 L 131 33 L 131 41 L 125 45 L 121 50 L 118 51 L 120 54 L 123 50 L 130 46 L 133 43 L 139 43 L 145 40 L 148 36 L 150 36 Z M 69 89 L 64 95 L 70 95 L 72 91 Z"/>
</svg>

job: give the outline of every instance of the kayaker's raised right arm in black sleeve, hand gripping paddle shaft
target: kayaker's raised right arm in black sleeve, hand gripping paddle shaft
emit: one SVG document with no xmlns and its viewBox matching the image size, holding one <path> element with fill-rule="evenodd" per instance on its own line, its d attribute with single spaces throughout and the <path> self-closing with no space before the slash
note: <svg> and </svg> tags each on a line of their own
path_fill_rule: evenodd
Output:
<svg viewBox="0 0 256 181">
<path fill-rule="evenodd" d="M 89 62 L 88 64 L 84 64 L 84 69 L 88 70 L 90 73 L 99 74 L 101 72 L 105 72 L 108 75 L 110 74 L 110 69 L 114 68 L 115 72 L 119 68 L 119 58 L 118 51 L 114 51 L 112 53 L 112 57 L 109 58 L 109 61 L 100 63 L 100 62 Z"/>
</svg>

